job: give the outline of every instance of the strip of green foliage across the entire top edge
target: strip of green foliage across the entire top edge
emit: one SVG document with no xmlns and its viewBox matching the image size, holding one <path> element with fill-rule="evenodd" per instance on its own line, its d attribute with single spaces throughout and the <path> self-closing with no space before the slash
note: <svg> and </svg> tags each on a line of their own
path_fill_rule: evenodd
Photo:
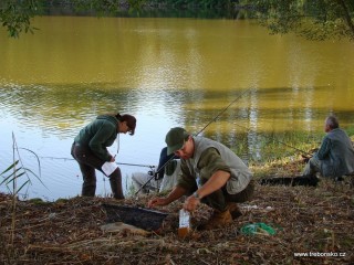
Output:
<svg viewBox="0 0 354 265">
<path fill-rule="evenodd" d="M 354 41 L 353 0 L 2 0 L 0 22 L 10 36 L 33 32 L 31 19 L 49 7 L 69 7 L 94 15 L 118 15 L 122 9 L 247 10 L 242 18 L 258 19 L 273 34 L 294 32 L 309 40 L 348 39 Z M 233 15 L 239 18 L 239 15 Z"/>
</svg>

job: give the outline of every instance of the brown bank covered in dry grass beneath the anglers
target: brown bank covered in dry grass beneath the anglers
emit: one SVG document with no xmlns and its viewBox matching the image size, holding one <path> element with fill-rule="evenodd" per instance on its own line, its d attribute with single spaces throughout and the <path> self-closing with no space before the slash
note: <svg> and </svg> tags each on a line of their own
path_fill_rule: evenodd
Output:
<svg viewBox="0 0 354 265">
<path fill-rule="evenodd" d="M 296 171 L 298 166 L 289 167 Z M 102 203 L 145 206 L 148 199 L 147 195 L 124 202 L 107 198 L 73 198 L 52 203 L 19 201 L 13 212 L 12 198 L 0 194 L 0 261 L 3 264 L 354 264 L 354 195 L 353 187 L 346 182 L 322 180 L 317 188 L 258 184 L 254 200 L 241 204 L 243 215 L 232 225 L 214 231 L 195 230 L 185 240 L 177 236 L 180 201 L 159 209 L 170 213 L 159 234 L 143 236 L 100 229 L 106 220 Z M 201 206 L 192 218 L 195 227 L 209 215 L 210 209 Z M 277 234 L 240 233 L 243 225 L 259 222 L 275 229 Z M 344 256 L 295 256 L 310 252 Z"/>
</svg>

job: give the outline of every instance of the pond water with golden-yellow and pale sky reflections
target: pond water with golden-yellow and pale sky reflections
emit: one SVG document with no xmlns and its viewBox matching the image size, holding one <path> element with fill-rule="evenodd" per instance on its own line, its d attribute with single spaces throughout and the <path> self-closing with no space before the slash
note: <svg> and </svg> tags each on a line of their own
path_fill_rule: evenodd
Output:
<svg viewBox="0 0 354 265">
<path fill-rule="evenodd" d="M 354 121 L 354 43 L 269 35 L 250 20 L 40 17 L 33 24 L 40 30 L 18 40 L 0 30 L 0 171 L 20 157 L 41 176 L 29 176 L 28 198 L 81 192 L 70 147 L 103 113 L 137 117 L 136 134 L 108 148 L 119 149 L 126 192 L 132 172 L 157 165 L 175 126 L 196 134 L 218 117 L 201 135 L 233 149 L 246 142 L 248 156 L 261 157 L 257 134 L 321 131 L 331 112 L 341 127 Z M 97 194 L 110 192 L 105 180 L 97 173 Z"/>
</svg>

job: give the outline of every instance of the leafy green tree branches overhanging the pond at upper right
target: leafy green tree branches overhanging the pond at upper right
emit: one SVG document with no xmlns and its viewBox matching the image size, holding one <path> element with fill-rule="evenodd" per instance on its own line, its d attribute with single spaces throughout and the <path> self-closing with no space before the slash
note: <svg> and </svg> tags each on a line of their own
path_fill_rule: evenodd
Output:
<svg viewBox="0 0 354 265">
<path fill-rule="evenodd" d="M 252 4 L 256 18 L 272 34 L 294 32 L 309 40 L 354 41 L 353 0 L 259 0 Z"/>
</svg>

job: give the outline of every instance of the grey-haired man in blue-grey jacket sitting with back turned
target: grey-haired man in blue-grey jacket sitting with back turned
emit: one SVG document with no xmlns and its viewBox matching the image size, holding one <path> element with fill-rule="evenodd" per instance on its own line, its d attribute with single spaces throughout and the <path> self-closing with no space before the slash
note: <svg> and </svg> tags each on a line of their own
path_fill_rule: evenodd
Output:
<svg viewBox="0 0 354 265">
<path fill-rule="evenodd" d="M 326 117 L 324 123 L 326 136 L 321 147 L 306 163 L 303 176 L 315 178 L 320 172 L 323 177 L 334 180 L 354 172 L 354 149 L 351 138 L 340 129 L 340 123 L 333 115 Z"/>
</svg>

